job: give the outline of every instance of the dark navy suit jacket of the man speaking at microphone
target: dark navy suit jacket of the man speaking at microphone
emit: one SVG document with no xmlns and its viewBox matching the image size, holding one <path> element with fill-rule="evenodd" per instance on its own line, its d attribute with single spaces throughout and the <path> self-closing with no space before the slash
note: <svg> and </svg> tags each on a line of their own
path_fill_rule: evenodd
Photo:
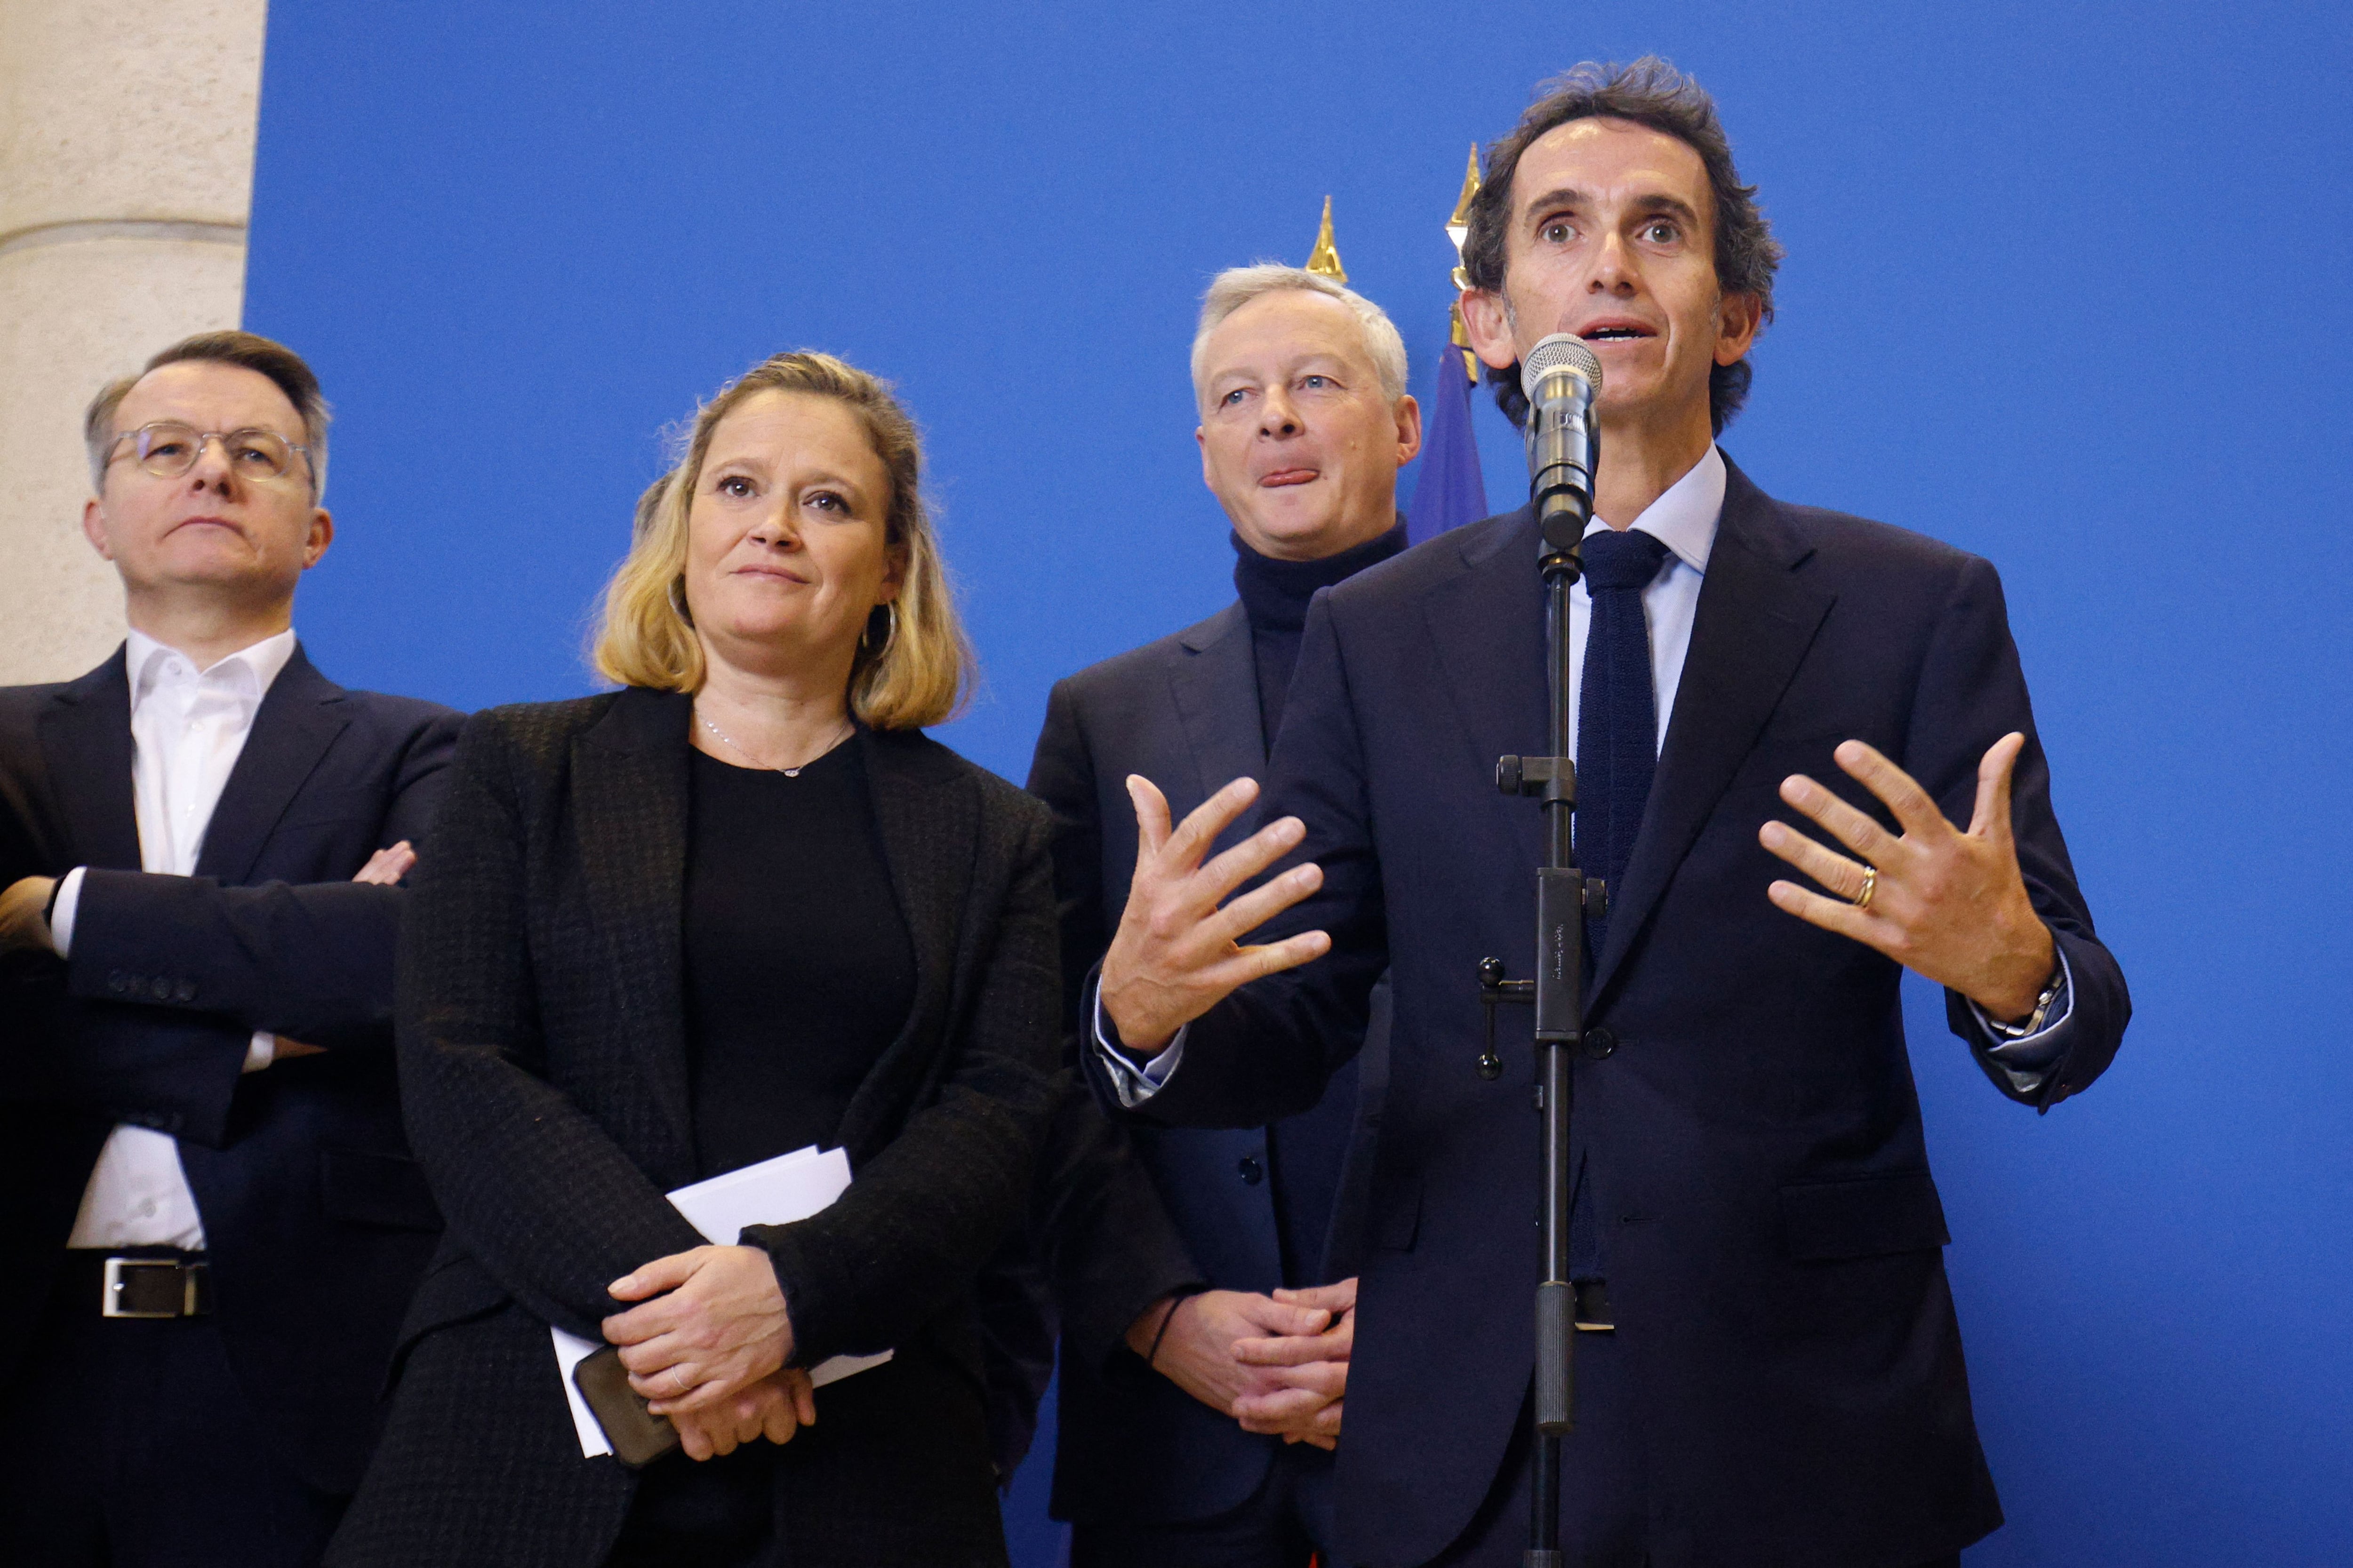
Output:
<svg viewBox="0 0 2353 1568">
<path fill-rule="evenodd" d="M 1489 1084 L 1473 1060 L 1478 961 L 1532 973 L 1539 813 L 1497 795 L 1494 759 L 1544 748 L 1541 670 L 1527 510 L 1320 599 L 1266 809 L 1306 820 L 1299 853 L 1325 882 L 1268 933 L 1325 929 L 1334 950 L 1198 1020 L 1146 1105 L 1231 1126 L 1313 1103 L 1393 964 L 1393 1086 L 1339 1448 L 1346 1561 L 1421 1563 L 1454 1540 L 1529 1382 L 1537 1121 L 1525 1067 Z M 1774 910 L 1765 886 L 1784 865 L 1758 825 L 1786 816 L 1777 785 L 1795 771 L 1875 806 L 1831 762 L 1847 736 L 1967 820 L 1977 762 L 2012 729 L 2028 736 L 2014 792 L 2026 884 L 2075 976 L 2068 1048 L 2035 1095 L 2047 1107 L 2108 1065 L 2129 999 L 2052 816 L 1993 567 L 1781 505 L 1732 470 L 1595 961 L 1588 1025 L 1614 1051 L 1577 1065 L 1572 1128 L 1607 1227 L 1661 1568 L 1911 1563 L 2000 1523 L 1901 969 Z"/>
</svg>

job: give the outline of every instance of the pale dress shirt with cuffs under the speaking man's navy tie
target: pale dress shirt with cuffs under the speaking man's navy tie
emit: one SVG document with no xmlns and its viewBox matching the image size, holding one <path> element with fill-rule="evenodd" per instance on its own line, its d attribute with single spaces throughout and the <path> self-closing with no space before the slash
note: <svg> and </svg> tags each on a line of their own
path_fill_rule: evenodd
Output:
<svg viewBox="0 0 2353 1568">
<path fill-rule="evenodd" d="M 1692 621 L 1699 614 L 1699 585 L 1708 576 L 1708 552 L 1715 548 L 1715 524 L 1722 510 L 1725 454 L 1711 444 L 1706 456 L 1692 463 L 1689 473 L 1668 484 L 1666 494 L 1642 508 L 1642 515 L 1628 524 L 1642 529 L 1668 548 L 1668 559 L 1659 569 L 1659 576 L 1654 576 L 1649 588 L 1642 590 L 1642 616 L 1649 621 L 1649 672 L 1657 684 L 1659 701 L 1657 745 L 1661 750 L 1666 748 L 1666 722 L 1675 712 L 1675 689 L 1682 684 L 1682 661 L 1692 651 Z M 1602 534 L 1607 529 L 1609 524 L 1595 517 L 1586 524 L 1586 536 Z M 1572 757 L 1577 755 L 1577 703 L 1586 677 L 1586 628 L 1591 625 L 1593 595 L 1586 592 L 1586 583 L 1579 578 L 1569 588 Z M 2064 954 L 2059 964 L 2064 976 Z M 2059 1058 L 2059 1048 L 2066 1044 L 2057 1032 L 2075 1011 L 2073 987 L 2061 990 L 2061 1004 L 2052 1009 L 2049 1023 L 2021 1039 L 2000 1039 L 1991 1030 L 1984 1030 L 1988 1018 L 1974 1001 L 1969 1004 L 1969 1011 L 1977 1013 L 1984 1034 L 1979 1051 L 2002 1067 L 2021 1093 L 2031 1093 L 2042 1081 L 2049 1063 Z M 1184 1037 L 1186 1030 L 1179 1030 L 1167 1051 L 1136 1067 L 1111 1046 L 1115 1034 L 1111 1030 L 1111 1020 L 1104 1016 L 1101 990 L 1096 990 L 1094 1046 L 1111 1074 L 1113 1088 L 1120 1093 L 1122 1105 L 1141 1105 L 1169 1081 L 1169 1074 L 1176 1072 L 1176 1063 L 1184 1058 Z"/>
</svg>

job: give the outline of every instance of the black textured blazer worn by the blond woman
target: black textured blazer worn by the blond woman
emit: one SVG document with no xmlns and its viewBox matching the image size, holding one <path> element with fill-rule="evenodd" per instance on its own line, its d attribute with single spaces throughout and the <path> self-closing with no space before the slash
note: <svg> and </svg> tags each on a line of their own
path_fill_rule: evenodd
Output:
<svg viewBox="0 0 2353 1568">
<path fill-rule="evenodd" d="M 588 1568 L 628 1512 L 633 1472 L 579 1453 L 546 1326 L 598 1338 L 609 1281 L 701 1246 L 661 1197 L 696 1173 L 689 715 L 685 696 L 628 689 L 482 712 L 459 741 L 400 973 L 409 1135 L 449 1234 L 334 1563 Z M 1054 1086 L 1047 818 L 920 733 L 854 745 L 915 1004 L 842 1119 L 849 1192 L 746 1241 L 776 1260 L 800 1363 L 899 1359 L 819 1389 L 819 1425 L 779 1453 L 779 1528 L 802 1566 L 993 1561 L 969 1295 L 1021 1213 Z M 894 1387 L 929 1420 L 864 1427 Z M 974 1455 L 976 1486 L 901 1474 Z"/>
</svg>

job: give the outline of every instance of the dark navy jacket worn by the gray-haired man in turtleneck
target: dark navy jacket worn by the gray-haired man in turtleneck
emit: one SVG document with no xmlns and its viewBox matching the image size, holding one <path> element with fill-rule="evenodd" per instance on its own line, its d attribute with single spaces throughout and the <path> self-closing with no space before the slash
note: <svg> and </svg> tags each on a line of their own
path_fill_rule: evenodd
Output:
<svg viewBox="0 0 2353 1568">
<path fill-rule="evenodd" d="M 1054 809 L 1054 884 L 1073 1032 L 1085 976 L 1111 945 L 1136 870 L 1129 773 L 1160 785 L 1176 820 L 1233 778 L 1266 778 L 1257 658 L 1240 604 L 1080 670 L 1059 682 L 1047 701 L 1028 788 Z M 1257 825 L 1257 811 L 1247 811 L 1219 846 Z M 1386 1039 L 1379 1039 L 1360 1058 L 1341 1063 L 1318 1098 L 1292 1107 L 1297 1121 L 1273 1128 L 1273 1140 L 1266 1126 L 1134 1126 L 1122 1135 L 1085 1107 L 1096 1135 L 1129 1147 L 1096 1150 L 1092 1161 L 1075 1161 L 1087 1171 L 1082 1180 L 1115 1190 L 1125 1178 L 1122 1161 L 1134 1161 L 1148 1185 L 1141 1197 L 1106 1204 L 1101 1220 L 1082 1227 L 1085 1234 L 1049 1227 L 1061 1234 L 1045 1241 L 1054 1255 L 1064 1319 L 1056 1516 L 1207 1519 L 1245 1502 L 1266 1479 L 1280 1439 L 1242 1432 L 1231 1415 L 1151 1373 L 1122 1349 L 1120 1335 L 1169 1284 L 1184 1279 L 1226 1291 L 1285 1284 L 1278 1175 L 1334 1194 L 1334 1220 L 1320 1239 L 1320 1255 L 1294 1260 L 1297 1284 L 1355 1272 L 1351 1239 L 1362 1227 L 1377 1114 L 1358 1079 L 1360 1072 L 1377 1079 L 1384 1065 Z M 1285 1147 L 1301 1154 L 1285 1164 Z M 1346 1157 L 1337 1168 L 1325 1168 L 1329 1159 L 1311 1166 L 1306 1150 L 1346 1150 Z M 1158 1213 L 1139 1215 L 1139 1208 Z M 1174 1229 L 1179 1248 L 1174 1262 L 1162 1262 L 1167 1229 Z"/>
</svg>

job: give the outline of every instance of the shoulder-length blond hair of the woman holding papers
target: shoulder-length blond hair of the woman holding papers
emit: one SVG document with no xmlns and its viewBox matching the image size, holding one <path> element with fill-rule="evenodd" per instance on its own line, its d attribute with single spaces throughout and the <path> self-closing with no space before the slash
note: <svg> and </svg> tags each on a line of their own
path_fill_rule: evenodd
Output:
<svg viewBox="0 0 2353 1568">
<path fill-rule="evenodd" d="M 866 428 L 889 475 L 885 543 L 904 559 L 899 597 L 875 604 L 849 668 L 849 712 L 873 729 L 922 729 L 955 717 L 972 686 L 972 644 L 955 618 L 939 536 L 922 503 L 922 437 L 892 388 L 833 355 L 774 355 L 729 381 L 694 414 L 685 454 L 661 484 L 647 527 L 605 585 L 591 661 L 624 686 L 701 691 L 704 644 L 687 616 L 687 515 L 711 433 L 760 393 L 831 397 Z"/>
</svg>

